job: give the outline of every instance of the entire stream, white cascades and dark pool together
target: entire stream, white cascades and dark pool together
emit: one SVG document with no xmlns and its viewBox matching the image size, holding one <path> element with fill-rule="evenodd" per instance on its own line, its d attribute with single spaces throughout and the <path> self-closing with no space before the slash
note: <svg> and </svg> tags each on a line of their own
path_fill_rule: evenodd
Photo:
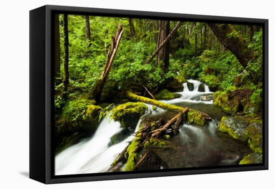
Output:
<svg viewBox="0 0 275 189">
<path fill-rule="evenodd" d="M 250 152 L 247 144 L 237 141 L 228 134 L 217 131 L 217 120 L 225 115 L 220 108 L 212 105 L 212 100 L 202 101 L 203 95 L 209 95 L 207 85 L 204 85 L 204 92 L 198 91 L 201 83 L 198 80 L 189 79 L 194 83 L 194 89 L 189 91 L 187 83 L 183 83 L 182 92 L 177 92 L 180 97 L 171 100 L 161 100 L 165 103 L 175 104 L 182 107 L 190 107 L 208 113 L 214 118 L 204 126 L 190 125 L 187 122 L 181 125 L 179 134 L 169 140 L 172 148 L 155 148 L 157 155 L 167 164 L 168 168 L 211 166 L 236 164 L 240 158 Z M 136 125 L 139 127 L 141 120 L 153 121 L 158 118 L 169 120 L 174 116 L 161 108 L 148 111 Z M 114 121 L 109 115 L 98 125 L 94 135 L 63 150 L 55 156 L 55 174 L 77 174 L 104 172 L 110 168 L 110 164 L 117 155 L 126 147 L 128 141 L 134 136 L 131 134 L 123 141 L 108 147 L 110 137 L 121 131 L 120 123 Z"/>
</svg>

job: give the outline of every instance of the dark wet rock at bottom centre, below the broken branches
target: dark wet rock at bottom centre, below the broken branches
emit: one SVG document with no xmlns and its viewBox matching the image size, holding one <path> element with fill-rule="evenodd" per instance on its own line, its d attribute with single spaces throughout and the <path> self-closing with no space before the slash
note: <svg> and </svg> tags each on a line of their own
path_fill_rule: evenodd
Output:
<svg viewBox="0 0 275 189">
<path fill-rule="evenodd" d="M 135 165 L 135 170 L 160 169 L 161 159 L 151 150 L 147 150 Z"/>
</svg>

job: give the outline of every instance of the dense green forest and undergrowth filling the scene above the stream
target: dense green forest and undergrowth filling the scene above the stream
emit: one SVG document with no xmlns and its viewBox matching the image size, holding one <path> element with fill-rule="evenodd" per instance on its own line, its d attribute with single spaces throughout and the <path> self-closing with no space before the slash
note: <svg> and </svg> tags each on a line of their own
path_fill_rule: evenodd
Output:
<svg viewBox="0 0 275 189">
<path fill-rule="evenodd" d="M 224 111 L 261 117 L 259 25 L 56 14 L 54 26 L 56 152 L 92 134 L 128 89 L 168 99 L 189 78 L 207 84 Z M 242 98 L 226 104 L 230 95 Z"/>
</svg>

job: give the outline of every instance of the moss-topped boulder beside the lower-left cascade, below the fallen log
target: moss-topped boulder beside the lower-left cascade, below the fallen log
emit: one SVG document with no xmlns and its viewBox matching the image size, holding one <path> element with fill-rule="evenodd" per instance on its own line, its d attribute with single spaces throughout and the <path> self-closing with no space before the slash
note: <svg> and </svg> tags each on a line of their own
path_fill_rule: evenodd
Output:
<svg viewBox="0 0 275 189">
<path fill-rule="evenodd" d="M 115 121 L 119 121 L 123 128 L 134 131 L 146 109 L 147 106 L 142 102 L 127 102 L 113 108 L 112 117 Z"/>
</svg>

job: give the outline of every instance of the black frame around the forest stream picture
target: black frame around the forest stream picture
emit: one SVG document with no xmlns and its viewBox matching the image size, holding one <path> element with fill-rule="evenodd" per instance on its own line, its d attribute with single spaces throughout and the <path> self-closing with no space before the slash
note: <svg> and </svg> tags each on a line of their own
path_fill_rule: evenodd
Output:
<svg viewBox="0 0 275 189">
<path fill-rule="evenodd" d="M 89 14 L 235 24 L 263 28 L 263 162 L 261 164 L 176 168 L 151 171 L 54 175 L 53 14 Z M 29 177 L 43 183 L 78 182 L 268 169 L 268 19 L 44 5 L 29 12 Z"/>
</svg>

